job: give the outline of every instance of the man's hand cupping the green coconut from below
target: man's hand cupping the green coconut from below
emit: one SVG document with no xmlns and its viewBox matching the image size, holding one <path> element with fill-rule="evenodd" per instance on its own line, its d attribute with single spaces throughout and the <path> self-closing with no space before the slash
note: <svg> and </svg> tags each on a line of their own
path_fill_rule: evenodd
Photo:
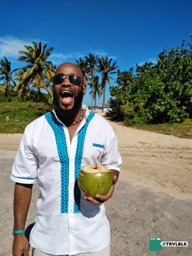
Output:
<svg viewBox="0 0 192 256">
<path fill-rule="evenodd" d="M 101 195 L 96 195 L 96 198 L 97 199 L 94 199 L 92 197 L 86 197 L 84 196 L 84 199 L 86 199 L 87 201 L 93 203 L 93 204 L 102 204 L 104 203 L 105 201 L 107 201 L 108 199 L 110 199 L 110 197 L 112 197 L 113 195 L 113 192 L 114 192 L 114 189 L 115 189 L 115 184 L 118 180 L 118 177 L 119 177 L 119 172 L 118 170 L 114 170 L 114 169 L 111 169 L 111 172 L 113 174 L 113 184 L 108 192 L 108 194 L 106 194 L 105 196 L 101 196 Z"/>
</svg>

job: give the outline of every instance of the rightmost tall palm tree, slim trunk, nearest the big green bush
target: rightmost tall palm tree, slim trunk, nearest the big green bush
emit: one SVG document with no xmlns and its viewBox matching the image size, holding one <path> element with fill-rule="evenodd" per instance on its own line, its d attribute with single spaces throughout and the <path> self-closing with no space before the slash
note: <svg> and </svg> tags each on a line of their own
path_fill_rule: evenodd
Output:
<svg viewBox="0 0 192 256">
<path fill-rule="evenodd" d="M 98 63 L 99 63 L 99 71 L 101 72 L 101 90 L 103 92 L 103 109 L 104 110 L 104 96 L 105 96 L 105 86 L 106 82 L 111 86 L 110 79 L 113 79 L 110 75 L 116 73 L 116 69 L 118 66 L 116 66 L 117 61 L 114 61 L 112 63 L 112 58 L 108 60 L 108 56 L 103 58 L 103 57 L 98 57 Z"/>
</svg>

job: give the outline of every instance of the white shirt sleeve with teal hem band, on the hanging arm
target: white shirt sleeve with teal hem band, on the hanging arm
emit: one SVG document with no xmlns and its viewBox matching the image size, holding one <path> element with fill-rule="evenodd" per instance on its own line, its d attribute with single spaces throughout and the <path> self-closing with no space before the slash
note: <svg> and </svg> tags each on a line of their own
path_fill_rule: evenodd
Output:
<svg viewBox="0 0 192 256">
<path fill-rule="evenodd" d="M 10 179 L 18 183 L 32 184 L 37 181 L 38 160 L 33 153 L 33 139 L 25 130 L 20 142 Z"/>
</svg>

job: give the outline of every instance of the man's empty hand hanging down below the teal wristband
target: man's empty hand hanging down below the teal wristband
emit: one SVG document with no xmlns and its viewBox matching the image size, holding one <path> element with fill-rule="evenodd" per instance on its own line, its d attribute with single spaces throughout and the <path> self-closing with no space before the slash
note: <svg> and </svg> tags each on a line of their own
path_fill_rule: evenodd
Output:
<svg viewBox="0 0 192 256">
<path fill-rule="evenodd" d="M 22 253 L 29 256 L 29 242 L 25 234 L 14 234 L 12 253 L 13 256 L 20 256 Z"/>
</svg>

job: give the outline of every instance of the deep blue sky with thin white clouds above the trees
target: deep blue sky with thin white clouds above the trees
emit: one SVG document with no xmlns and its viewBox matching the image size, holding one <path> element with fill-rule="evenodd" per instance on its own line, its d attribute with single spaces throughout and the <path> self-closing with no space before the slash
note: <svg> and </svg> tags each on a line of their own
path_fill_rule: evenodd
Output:
<svg viewBox="0 0 192 256">
<path fill-rule="evenodd" d="M 2 0 L 1 10 L 0 58 L 12 68 L 24 65 L 16 61 L 18 50 L 41 40 L 55 48 L 57 66 L 92 52 L 112 57 L 123 71 L 155 61 L 164 46 L 180 46 L 192 33 L 189 0 Z M 84 102 L 91 104 L 89 90 Z"/>
</svg>

